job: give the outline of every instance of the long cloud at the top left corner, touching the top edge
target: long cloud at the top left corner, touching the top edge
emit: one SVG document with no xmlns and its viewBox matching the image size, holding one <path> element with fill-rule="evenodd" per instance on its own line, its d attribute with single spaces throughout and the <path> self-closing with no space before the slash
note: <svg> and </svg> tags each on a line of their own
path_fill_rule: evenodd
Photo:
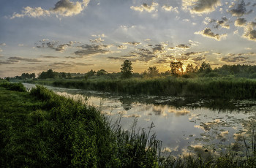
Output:
<svg viewBox="0 0 256 168">
<path fill-rule="evenodd" d="M 50 16 L 52 14 L 59 14 L 61 16 L 72 16 L 78 15 L 83 11 L 89 4 L 89 0 L 83 0 L 82 2 L 76 1 L 72 2 L 69 0 L 58 1 L 53 9 L 42 9 L 41 7 L 24 7 L 21 13 L 13 13 L 11 19 L 13 18 L 23 18 L 28 16 L 30 18 L 38 18 L 41 16 Z"/>
</svg>

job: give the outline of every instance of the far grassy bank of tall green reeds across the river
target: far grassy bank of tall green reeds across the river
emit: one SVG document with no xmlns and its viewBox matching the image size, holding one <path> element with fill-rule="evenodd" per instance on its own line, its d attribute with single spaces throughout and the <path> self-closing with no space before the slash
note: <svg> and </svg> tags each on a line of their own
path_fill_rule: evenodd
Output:
<svg viewBox="0 0 256 168">
<path fill-rule="evenodd" d="M 159 96 L 195 96 L 255 99 L 256 80 L 235 77 L 164 77 L 129 80 L 34 80 L 33 83 L 64 88 Z"/>
</svg>

